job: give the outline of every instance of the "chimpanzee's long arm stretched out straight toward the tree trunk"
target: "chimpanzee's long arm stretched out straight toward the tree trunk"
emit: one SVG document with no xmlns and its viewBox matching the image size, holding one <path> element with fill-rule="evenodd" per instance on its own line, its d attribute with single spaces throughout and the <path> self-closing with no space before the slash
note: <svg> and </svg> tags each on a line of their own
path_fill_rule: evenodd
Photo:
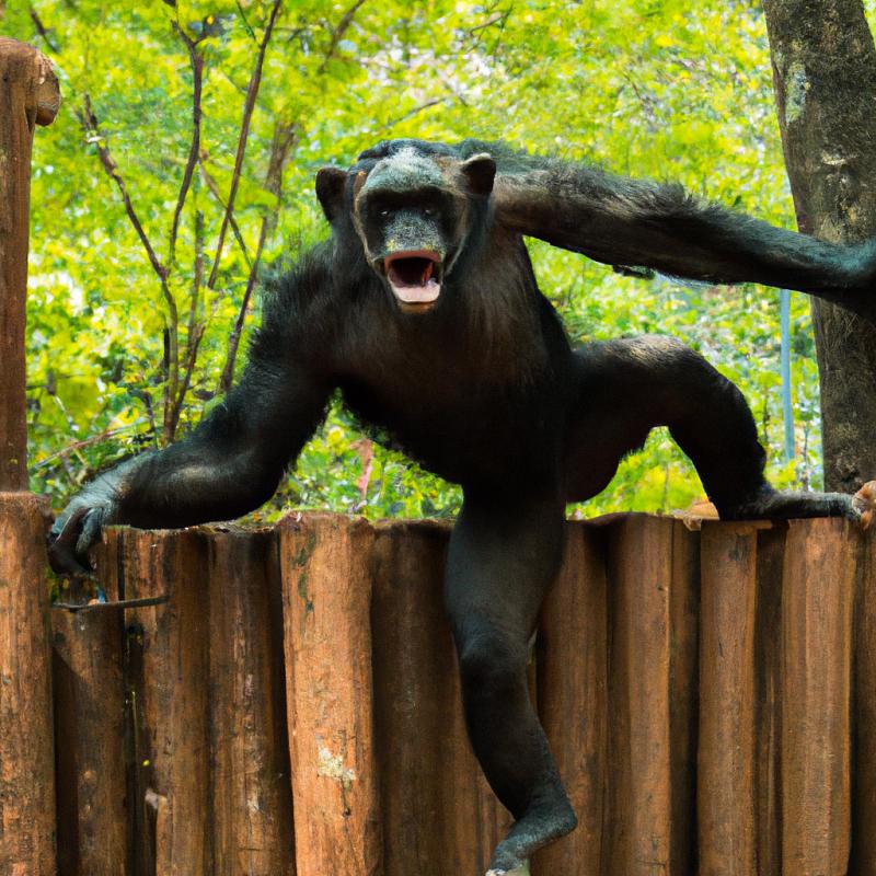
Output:
<svg viewBox="0 0 876 876">
<path fill-rule="evenodd" d="M 496 220 L 521 234 L 618 267 L 797 289 L 876 322 L 876 241 L 841 246 L 701 203 L 680 185 L 507 150 L 495 158 Z"/>
</svg>

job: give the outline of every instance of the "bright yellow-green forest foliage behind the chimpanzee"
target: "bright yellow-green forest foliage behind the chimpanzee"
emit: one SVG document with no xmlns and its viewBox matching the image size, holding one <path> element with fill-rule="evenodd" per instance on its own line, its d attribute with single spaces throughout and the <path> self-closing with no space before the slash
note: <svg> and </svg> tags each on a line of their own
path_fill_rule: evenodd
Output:
<svg viewBox="0 0 876 876">
<path fill-rule="evenodd" d="M 749 0 L 0 0 L 0 33 L 51 58 L 65 96 L 35 143 L 28 302 L 32 488 L 58 507 L 219 403 L 257 325 L 261 278 L 327 233 L 316 170 L 378 140 L 503 139 L 795 227 Z M 528 245 L 573 342 L 681 338 L 745 392 L 772 481 L 820 486 L 805 296 L 791 296 L 788 454 L 777 290 L 623 277 Z M 701 496 L 659 429 L 570 510 L 669 511 Z M 442 517 L 460 498 L 335 401 L 257 516 Z"/>
</svg>

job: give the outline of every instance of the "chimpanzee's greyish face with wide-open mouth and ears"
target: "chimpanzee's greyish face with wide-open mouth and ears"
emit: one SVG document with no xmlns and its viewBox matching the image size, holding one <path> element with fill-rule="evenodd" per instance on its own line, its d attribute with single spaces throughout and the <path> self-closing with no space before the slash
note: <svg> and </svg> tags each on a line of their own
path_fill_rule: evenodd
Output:
<svg viewBox="0 0 876 876">
<path fill-rule="evenodd" d="M 388 145 L 368 170 L 354 169 L 350 211 L 368 264 L 403 311 L 423 313 L 440 299 L 465 243 L 469 199 L 489 193 L 495 164 L 486 154 L 460 161 L 424 153 L 410 142 Z M 339 172 L 320 172 L 326 173 L 336 191 Z M 331 219 L 336 195 L 328 191 L 326 197 L 325 183 L 318 177 L 316 191 Z"/>
</svg>

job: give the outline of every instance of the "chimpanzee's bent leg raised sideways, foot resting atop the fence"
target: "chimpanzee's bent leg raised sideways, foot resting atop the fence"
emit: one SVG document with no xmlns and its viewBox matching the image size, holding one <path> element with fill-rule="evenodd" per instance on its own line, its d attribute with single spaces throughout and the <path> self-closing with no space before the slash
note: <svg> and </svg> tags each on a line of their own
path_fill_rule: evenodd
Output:
<svg viewBox="0 0 876 876">
<path fill-rule="evenodd" d="M 723 519 L 857 519 L 865 510 L 864 499 L 843 493 L 771 487 L 763 475 L 765 454 L 741 392 L 679 341 L 644 336 L 588 344 L 577 353 L 577 361 L 579 392 L 566 450 L 567 498 L 595 495 L 623 453 L 652 427 L 668 426 Z"/>
</svg>

